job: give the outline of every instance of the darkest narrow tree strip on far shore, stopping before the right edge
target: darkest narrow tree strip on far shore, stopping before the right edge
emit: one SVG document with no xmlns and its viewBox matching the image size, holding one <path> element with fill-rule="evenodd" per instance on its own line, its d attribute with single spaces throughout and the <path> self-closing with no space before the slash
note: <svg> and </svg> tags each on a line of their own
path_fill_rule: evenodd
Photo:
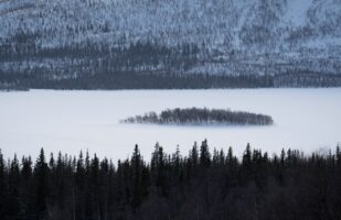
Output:
<svg viewBox="0 0 341 220">
<path fill-rule="evenodd" d="M 65 77 L 70 76 L 70 77 Z M 74 77 L 76 76 L 76 77 Z M 270 88 L 270 76 L 178 75 L 168 73 L 105 73 L 90 76 L 75 69 L 64 77 L 50 78 L 49 69 L 30 74 L 0 70 L 0 88 L 32 89 L 213 89 L 213 88 Z"/>
</svg>

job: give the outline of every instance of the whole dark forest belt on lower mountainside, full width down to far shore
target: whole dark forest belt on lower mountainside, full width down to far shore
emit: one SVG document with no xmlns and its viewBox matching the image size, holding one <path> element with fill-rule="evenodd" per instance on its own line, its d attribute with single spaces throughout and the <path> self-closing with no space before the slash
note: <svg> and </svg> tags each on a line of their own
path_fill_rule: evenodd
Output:
<svg viewBox="0 0 341 220">
<path fill-rule="evenodd" d="M 234 52 L 226 55 L 227 61 L 215 61 L 217 54 L 210 53 L 204 43 L 200 42 L 166 46 L 151 40 L 135 43 L 121 40 L 116 44 L 87 41 L 43 47 L 35 43 L 39 37 L 39 32 L 19 31 L 11 37 L 0 40 L 0 89 L 341 86 L 341 75 L 332 74 L 332 70 L 327 68 L 331 64 L 321 64 L 326 66 L 321 73 L 313 73 L 309 70 L 310 67 L 307 67 L 307 70 L 286 70 L 280 66 L 266 64 L 244 66 L 238 64 L 239 55 Z M 233 61 L 234 58 L 236 61 Z M 213 67 L 210 67 L 212 64 Z M 334 68 L 338 69 L 337 64 Z M 259 74 L 264 72 L 267 74 Z"/>
</svg>

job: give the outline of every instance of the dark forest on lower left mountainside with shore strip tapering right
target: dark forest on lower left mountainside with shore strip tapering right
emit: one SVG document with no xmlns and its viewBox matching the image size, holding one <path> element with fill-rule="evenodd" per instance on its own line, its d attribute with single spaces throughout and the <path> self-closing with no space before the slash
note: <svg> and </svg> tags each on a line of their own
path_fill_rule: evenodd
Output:
<svg viewBox="0 0 341 220">
<path fill-rule="evenodd" d="M 273 87 L 270 76 L 189 74 L 207 57 L 196 44 L 85 42 L 55 48 L 18 33 L 0 44 L 1 89 L 196 89 Z"/>
</svg>

